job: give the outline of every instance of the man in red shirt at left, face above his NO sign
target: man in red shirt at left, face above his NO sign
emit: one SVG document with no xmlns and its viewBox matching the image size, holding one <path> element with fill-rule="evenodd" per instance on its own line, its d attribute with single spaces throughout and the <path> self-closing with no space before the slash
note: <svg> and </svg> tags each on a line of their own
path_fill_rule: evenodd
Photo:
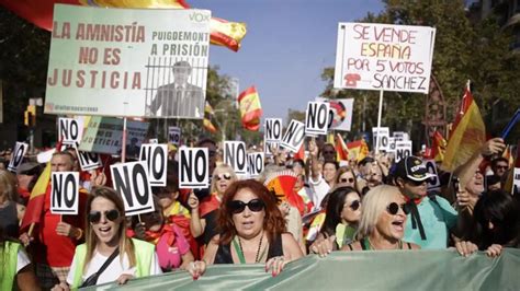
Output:
<svg viewBox="0 0 520 291">
<path fill-rule="evenodd" d="M 50 172 L 71 172 L 74 163 L 75 159 L 69 152 L 56 152 L 50 159 Z M 39 209 L 30 200 L 25 217 L 39 213 L 38 223 L 35 224 L 32 237 L 24 232 L 25 230 L 21 230 L 23 233 L 20 236 L 24 245 L 29 245 L 33 240 L 36 241 L 31 251 L 36 263 L 36 277 L 44 289 L 65 282 L 67 279 L 76 245 L 84 238 L 82 229 L 88 196 L 84 189 L 79 190 L 77 216 L 53 214 L 50 188 L 52 183 L 48 183 Z"/>
</svg>

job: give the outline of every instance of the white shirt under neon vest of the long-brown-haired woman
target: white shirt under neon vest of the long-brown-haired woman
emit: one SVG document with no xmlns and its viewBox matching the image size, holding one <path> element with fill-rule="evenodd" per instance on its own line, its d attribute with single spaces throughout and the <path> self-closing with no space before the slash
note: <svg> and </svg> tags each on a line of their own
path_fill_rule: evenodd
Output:
<svg viewBox="0 0 520 291">
<path fill-rule="evenodd" d="M 83 282 L 97 272 L 101 266 L 105 263 L 109 256 L 103 256 L 98 252 L 94 252 L 92 259 L 90 260 L 89 265 L 87 266 L 87 270 L 83 272 L 81 277 L 81 281 Z M 75 256 L 72 259 L 72 264 L 70 265 L 70 270 L 67 276 L 67 283 L 74 283 L 74 275 L 76 272 L 77 266 L 77 257 Z M 136 267 L 129 267 L 128 256 L 126 253 L 124 254 L 123 261 L 120 259 L 120 255 L 117 255 L 112 263 L 110 263 L 109 267 L 98 277 L 97 284 L 109 283 L 117 280 L 121 275 L 127 273 L 135 277 Z M 154 257 L 151 258 L 151 266 L 150 266 L 150 276 L 162 273 L 162 270 L 159 266 L 159 259 L 157 258 L 157 253 L 154 253 Z"/>
</svg>

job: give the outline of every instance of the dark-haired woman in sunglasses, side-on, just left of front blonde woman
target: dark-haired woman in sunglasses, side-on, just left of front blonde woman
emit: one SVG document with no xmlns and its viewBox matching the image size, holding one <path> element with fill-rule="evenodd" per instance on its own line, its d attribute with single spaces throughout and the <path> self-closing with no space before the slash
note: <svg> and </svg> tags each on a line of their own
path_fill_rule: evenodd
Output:
<svg viewBox="0 0 520 291">
<path fill-rule="evenodd" d="M 324 240 L 334 237 L 331 251 L 338 251 L 353 241 L 361 217 L 361 197 L 352 187 L 339 187 L 329 194 L 325 222 L 309 249 L 325 254 L 328 244 Z"/>
</svg>

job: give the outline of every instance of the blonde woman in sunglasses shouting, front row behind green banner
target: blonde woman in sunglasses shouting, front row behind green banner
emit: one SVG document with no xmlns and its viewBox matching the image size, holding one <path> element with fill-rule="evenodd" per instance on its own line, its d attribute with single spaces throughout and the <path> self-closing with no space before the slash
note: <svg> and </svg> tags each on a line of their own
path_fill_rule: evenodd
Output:
<svg viewBox="0 0 520 291">
<path fill-rule="evenodd" d="M 419 245 L 403 242 L 407 210 L 405 199 L 395 186 L 380 185 L 363 198 L 358 241 L 342 251 L 418 249 Z"/>
</svg>

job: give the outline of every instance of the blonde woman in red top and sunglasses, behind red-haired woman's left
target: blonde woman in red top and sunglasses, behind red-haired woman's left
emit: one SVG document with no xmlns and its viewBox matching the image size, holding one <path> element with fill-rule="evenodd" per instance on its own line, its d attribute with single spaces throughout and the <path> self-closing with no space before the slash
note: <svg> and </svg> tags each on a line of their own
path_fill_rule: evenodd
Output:
<svg viewBox="0 0 520 291">
<path fill-rule="evenodd" d="M 221 164 L 213 171 L 211 194 L 201 201 L 192 191 L 188 198 L 188 206 L 191 208 L 190 230 L 193 237 L 201 235 L 204 245 L 216 234 L 216 214 L 221 207 L 222 197 L 226 189 L 237 181 L 237 175 L 233 168 L 226 164 Z"/>
</svg>

